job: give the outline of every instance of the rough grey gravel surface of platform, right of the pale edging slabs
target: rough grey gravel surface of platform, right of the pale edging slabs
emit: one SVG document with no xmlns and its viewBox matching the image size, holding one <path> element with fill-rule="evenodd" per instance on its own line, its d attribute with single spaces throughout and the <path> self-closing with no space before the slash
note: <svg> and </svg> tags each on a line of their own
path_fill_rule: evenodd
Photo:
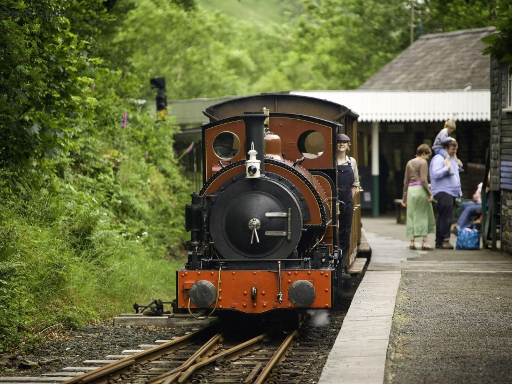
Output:
<svg viewBox="0 0 512 384">
<path fill-rule="evenodd" d="M 510 278 L 402 272 L 385 383 L 512 382 Z"/>
</svg>

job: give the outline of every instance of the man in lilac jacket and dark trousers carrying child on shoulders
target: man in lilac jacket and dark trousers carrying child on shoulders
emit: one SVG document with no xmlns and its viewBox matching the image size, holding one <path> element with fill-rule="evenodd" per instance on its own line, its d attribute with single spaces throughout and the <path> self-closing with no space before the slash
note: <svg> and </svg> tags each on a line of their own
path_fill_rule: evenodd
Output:
<svg viewBox="0 0 512 384">
<path fill-rule="evenodd" d="M 460 188 L 459 164 L 456 155 L 458 144 L 453 140 L 444 146 L 450 159 L 436 155 L 430 162 L 432 195 L 437 200 L 436 248 L 453 249 L 450 244 L 450 227 L 453 221 L 455 198 L 462 196 Z"/>
</svg>

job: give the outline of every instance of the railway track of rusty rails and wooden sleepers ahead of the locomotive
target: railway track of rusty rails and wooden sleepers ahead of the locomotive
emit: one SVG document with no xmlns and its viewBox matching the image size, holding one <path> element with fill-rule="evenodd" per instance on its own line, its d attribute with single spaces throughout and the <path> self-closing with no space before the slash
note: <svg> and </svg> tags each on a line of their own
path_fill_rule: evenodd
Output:
<svg viewBox="0 0 512 384">
<path fill-rule="evenodd" d="M 218 323 L 160 341 L 159 345 L 142 346 L 147 348 L 144 350 L 124 351 L 133 353 L 128 356 L 106 356 L 115 361 L 89 360 L 105 364 L 100 368 L 68 367 L 39 377 L 2 377 L 0 383 L 299 383 L 293 377 L 304 372 L 311 352 L 322 342 L 308 334 L 307 326 L 289 332 L 245 331 L 242 335 Z"/>
</svg>

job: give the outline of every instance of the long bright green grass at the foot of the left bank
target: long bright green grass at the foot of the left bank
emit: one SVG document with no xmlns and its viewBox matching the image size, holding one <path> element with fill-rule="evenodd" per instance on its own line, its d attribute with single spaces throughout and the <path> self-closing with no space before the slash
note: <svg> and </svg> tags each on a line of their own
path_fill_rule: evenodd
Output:
<svg viewBox="0 0 512 384">
<path fill-rule="evenodd" d="M 37 200 L 61 219 L 80 222 L 59 197 Z M 78 229 L 65 220 L 41 221 L 43 207 L 31 210 L 34 215 L 27 218 L 13 202 L 0 215 L 0 351 L 20 340 L 27 346 L 38 342 L 34 336 L 40 324 L 78 327 L 131 312 L 134 302 L 175 297 L 175 270 L 183 266 L 184 257 L 155 257 L 144 240 L 126 240 L 108 228 L 111 223 L 99 223 L 102 216 L 94 211 L 88 212 L 93 219 Z M 90 226 L 92 233 L 82 239 L 87 244 L 76 247 L 75 233 Z"/>
</svg>

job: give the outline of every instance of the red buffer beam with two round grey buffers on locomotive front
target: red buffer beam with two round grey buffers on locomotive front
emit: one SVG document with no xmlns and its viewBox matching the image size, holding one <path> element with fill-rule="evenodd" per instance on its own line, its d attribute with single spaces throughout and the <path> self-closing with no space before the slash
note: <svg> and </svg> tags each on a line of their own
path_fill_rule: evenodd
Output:
<svg viewBox="0 0 512 384">
<path fill-rule="evenodd" d="M 284 269 L 281 274 L 277 270 L 222 270 L 220 273 L 218 286 L 218 270 L 178 270 L 178 308 L 211 309 L 216 299 L 219 309 L 245 313 L 332 305 L 332 269 Z"/>
</svg>

